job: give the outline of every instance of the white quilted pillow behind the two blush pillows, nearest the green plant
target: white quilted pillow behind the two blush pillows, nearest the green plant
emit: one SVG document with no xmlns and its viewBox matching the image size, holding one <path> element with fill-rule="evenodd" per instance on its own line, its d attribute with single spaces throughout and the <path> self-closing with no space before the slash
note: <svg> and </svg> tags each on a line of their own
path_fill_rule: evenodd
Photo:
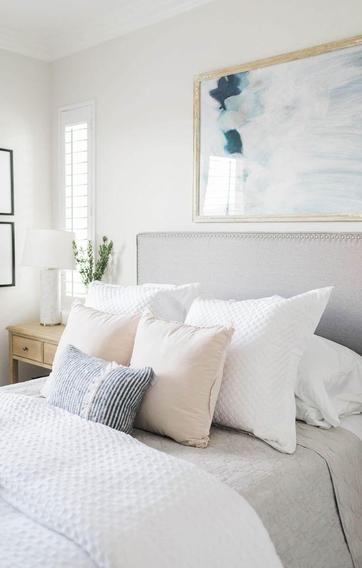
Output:
<svg viewBox="0 0 362 568">
<path fill-rule="evenodd" d="M 116 286 L 94 281 L 89 285 L 85 305 L 114 315 L 150 310 L 158 318 L 183 322 L 188 307 L 202 290 L 199 283 L 162 287 Z"/>
</svg>

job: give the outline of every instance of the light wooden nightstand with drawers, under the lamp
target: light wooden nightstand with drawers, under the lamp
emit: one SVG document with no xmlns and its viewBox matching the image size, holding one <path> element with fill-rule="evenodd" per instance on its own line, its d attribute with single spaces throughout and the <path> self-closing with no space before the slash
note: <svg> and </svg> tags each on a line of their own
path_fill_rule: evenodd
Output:
<svg viewBox="0 0 362 568">
<path fill-rule="evenodd" d="M 10 381 L 18 382 L 18 361 L 52 369 L 54 354 L 65 325 L 45 326 L 40 323 L 9 325 Z"/>
</svg>

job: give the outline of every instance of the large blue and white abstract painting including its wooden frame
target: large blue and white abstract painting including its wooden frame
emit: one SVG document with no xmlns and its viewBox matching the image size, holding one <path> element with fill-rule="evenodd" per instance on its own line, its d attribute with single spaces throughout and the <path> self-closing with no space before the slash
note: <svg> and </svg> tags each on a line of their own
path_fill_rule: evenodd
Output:
<svg viewBox="0 0 362 568">
<path fill-rule="evenodd" d="M 362 36 L 195 77 L 193 220 L 362 220 Z"/>
</svg>

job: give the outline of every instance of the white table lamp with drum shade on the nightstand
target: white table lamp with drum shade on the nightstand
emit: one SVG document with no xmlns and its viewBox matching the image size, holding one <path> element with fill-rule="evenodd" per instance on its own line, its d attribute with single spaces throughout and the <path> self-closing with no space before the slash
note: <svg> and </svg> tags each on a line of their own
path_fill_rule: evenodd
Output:
<svg viewBox="0 0 362 568">
<path fill-rule="evenodd" d="M 53 229 L 28 229 L 23 252 L 23 266 L 40 270 L 40 324 L 60 325 L 60 270 L 75 269 L 72 241 L 75 233 Z"/>
</svg>

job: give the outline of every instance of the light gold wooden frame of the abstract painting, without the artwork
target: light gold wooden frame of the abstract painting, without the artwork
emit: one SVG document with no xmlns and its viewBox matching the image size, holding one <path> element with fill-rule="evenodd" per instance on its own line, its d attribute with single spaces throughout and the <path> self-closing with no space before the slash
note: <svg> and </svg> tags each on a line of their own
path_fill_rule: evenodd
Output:
<svg viewBox="0 0 362 568">
<path fill-rule="evenodd" d="M 362 36 L 350 39 L 334 41 L 317 47 L 301 49 L 284 55 L 268 57 L 258 61 L 252 61 L 242 65 L 219 69 L 209 73 L 201 73 L 194 78 L 193 82 L 193 221 L 197 223 L 210 222 L 288 222 L 288 221 L 360 221 L 361 212 L 353 213 L 313 213 L 313 214 L 258 214 L 258 215 L 205 215 L 200 211 L 200 119 L 201 119 L 201 85 L 204 81 L 220 79 L 224 76 L 232 76 L 235 73 L 250 72 L 251 70 L 275 66 L 281 63 L 305 59 L 315 55 L 322 55 L 349 47 L 362 45 Z M 362 71 L 361 71 L 362 73 Z M 361 177 L 362 179 L 362 177 Z M 361 185 L 362 200 L 362 185 Z M 362 203 L 362 201 L 361 201 Z"/>
</svg>

